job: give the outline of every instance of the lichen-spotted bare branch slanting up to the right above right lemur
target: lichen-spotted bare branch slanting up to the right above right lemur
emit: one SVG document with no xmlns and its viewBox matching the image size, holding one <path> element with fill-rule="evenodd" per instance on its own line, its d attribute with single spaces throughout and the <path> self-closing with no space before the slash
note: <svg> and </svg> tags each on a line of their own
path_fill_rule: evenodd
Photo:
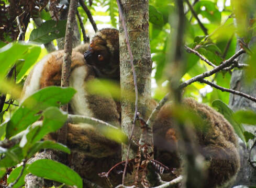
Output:
<svg viewBox="0 0 256 188">
<path fill-rule="evenodd" d="M 231 63 L 241 54 L 246 53 L 245 50 L 240 49 L 237 53 L 235 53 L 232 57 L 230 57 L 228 60 L 222 62 L 222 64 L 220 64 L 219 66 L 216 66 L 215 68 L 213 68 L 212 70 L 206 71 L 202 74 L 199 74 L 191 79 L 188 79 L 186 81 L 184 81 L 183 83 L 180 84 L 180 89 L 187 87 L 188 85 L 194 83 L 195 81 L 199 81 L 204 79 L 205 77 L 211 76 L 217 72 L 219 72 L 220 70 L 222 70 L 225 67 L 228 67 L 231 65 Z"/>
</svg>

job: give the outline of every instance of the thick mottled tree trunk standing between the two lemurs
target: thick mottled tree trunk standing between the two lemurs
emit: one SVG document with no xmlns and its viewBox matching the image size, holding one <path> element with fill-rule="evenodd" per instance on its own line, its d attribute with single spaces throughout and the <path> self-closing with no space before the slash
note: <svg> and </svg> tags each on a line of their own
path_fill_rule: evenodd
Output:
<svg viewBox="0 0 256 188">
<path fill-rule="evenodd" d="M 147 120 L 150 114 L 148 104 L 151 100 L 151 68 L 152 61 L 149 46 L 149 13 L 148 0 L 121 0 L 121 9 L 123 9 L 124 20 L 129 35 L 131 51 L 133 54 L 133 64 L 137 74 L 138 85 L 138 112 L 140 116 Z M 119 16 L 119 44 L 120 44 L 120 85 L 121 85 L 121 106 L 122 106 L 122 129 L 130 135 L 133 116 L 135 113 L 135 86 L 133 83 L 133 74 L 130 64 L 130 56 L 125 41 L 125 31 Z M 135 127 L 133 136 L 136 141 L 139 140 L 141 130 L 139 126 Z M 127 146 L 123 145 L 122 156 L 126 158 Z M 134 158 L 135 153 L 130 151 L 129 158 Z M 131 179 L 132 180 L 132 179 Z M 133 183 L 133 182 L 132 182 Z"/>
</svg>

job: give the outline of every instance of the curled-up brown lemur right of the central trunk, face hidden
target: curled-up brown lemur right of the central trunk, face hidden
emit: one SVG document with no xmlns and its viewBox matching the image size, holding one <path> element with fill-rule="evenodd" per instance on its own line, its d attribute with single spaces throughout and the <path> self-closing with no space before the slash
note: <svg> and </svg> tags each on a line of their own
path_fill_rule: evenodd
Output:
<svg viewBox="0 0 256 188">
<path fill-rule="evenodd" d="M 207 184 L 204 187 L 217 187 L 227 183 L 235 177 L 240 160 L 237 149 L 237 139 L 233 127 L 214 109 L 205 104 L 200 104 L 194 99 L 184 99 L 186 107 L 201 116 L 207 123 L 207 131 L 194 128 L 196 140 L 194 140 L 205 157 L 208 164 Z M 177 138 L 172 126 L 171 104 L 165 104 L 153 124 L 154 145 L 157 160 L 169 167 L 179 167 L 179 152 L 177 152 Z M 164 138 L 164 139 L 162 139 Z"/>
</svg>

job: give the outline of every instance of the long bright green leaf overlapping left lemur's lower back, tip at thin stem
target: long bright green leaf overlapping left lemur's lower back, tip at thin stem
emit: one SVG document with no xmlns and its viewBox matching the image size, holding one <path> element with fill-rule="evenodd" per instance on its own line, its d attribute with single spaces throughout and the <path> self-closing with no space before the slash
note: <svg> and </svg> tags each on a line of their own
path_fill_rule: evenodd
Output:
<svg viewBox="0 0 256 188">
<path fill-rule="evenodd" d="M 73 88 L 60 88 L 57 86 L 37 91 L 20 105 L 7 122 L 6 138 L 24 131 L 28 125 L 37 121 L 41 116 L 40 112 L 42 110 L 50 106 L 60 107 L 60 105 L 68 103 L 74 93 L 75 90 Z"/>
</svg>

